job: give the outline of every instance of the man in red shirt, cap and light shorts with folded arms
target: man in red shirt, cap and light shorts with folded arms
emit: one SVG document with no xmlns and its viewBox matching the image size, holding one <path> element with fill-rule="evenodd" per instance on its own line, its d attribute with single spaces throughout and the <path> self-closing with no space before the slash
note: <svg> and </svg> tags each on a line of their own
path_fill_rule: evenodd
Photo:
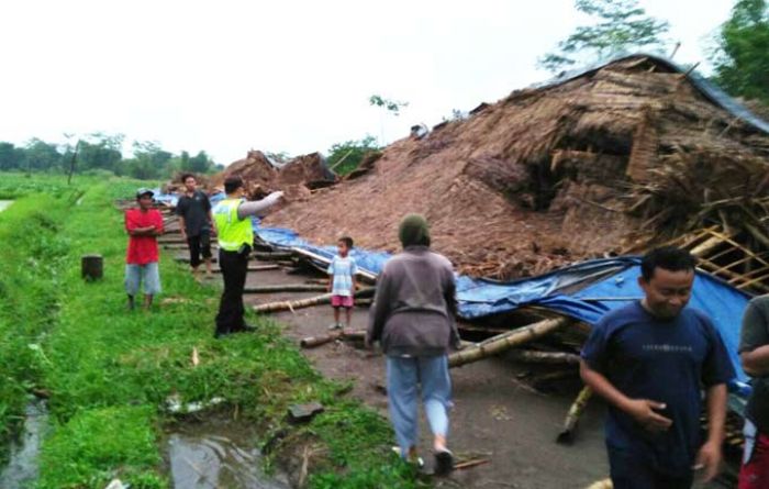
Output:
<svg viewBox="0 0 769 489">
<path fill-rule="evenodd" d="M 125 231 L 129 233 L 129 249 L 125 256 L 125 291 L 129 309 L 134 309 L 134 297 L 144 282 L 144 308 L 149 309 L 153 297 L 160 293 L 157 236 L 163 234 L 163 215 L 153 209 L 155 195 L 147 188 L 136 191 L 137 209 L 125 211 Z"/>
</svg>

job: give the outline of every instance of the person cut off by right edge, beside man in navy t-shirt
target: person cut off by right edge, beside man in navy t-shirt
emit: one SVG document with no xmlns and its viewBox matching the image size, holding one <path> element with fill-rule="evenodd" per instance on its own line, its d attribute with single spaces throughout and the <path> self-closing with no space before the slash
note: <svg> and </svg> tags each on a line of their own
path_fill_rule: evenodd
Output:
<svg viewBox="0 0 769 489">
<path fill-rule="evenodd" d="M 769 294 L 748 302 L 739 336 L 739 359 L 753 377 L 745 409 L 745 452 L 738 489 L 769 488 Z"/>
</svg>

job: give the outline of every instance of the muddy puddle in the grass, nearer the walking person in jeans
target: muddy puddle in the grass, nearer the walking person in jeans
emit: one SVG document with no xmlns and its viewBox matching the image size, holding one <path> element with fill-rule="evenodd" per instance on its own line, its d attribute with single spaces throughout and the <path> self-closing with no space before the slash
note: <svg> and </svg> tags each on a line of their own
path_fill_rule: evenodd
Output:
<svg viewBox="0 0 769 489">
<path fill-rule="evenodd" d="M 289 489 L 286 477 L 267 476 L 250 430 L 205 422 L 168 435 L 171 480 L 177 489 Z"/>
</svg>

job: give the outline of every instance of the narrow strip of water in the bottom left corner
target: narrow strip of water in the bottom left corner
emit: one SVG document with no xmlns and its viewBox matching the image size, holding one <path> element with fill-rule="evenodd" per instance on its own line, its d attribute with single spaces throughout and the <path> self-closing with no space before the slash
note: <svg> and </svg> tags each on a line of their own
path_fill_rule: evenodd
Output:
<svg viewBox="0 0 769 489">
<path fill-rule="evenodd" d="M 0 487 L 32 487 L 37 480 L 37 455 L 48 424 L 48 410 L 43 401 L 26 407 L 23 437 L 11 445 L 10 462 L 0 471 Z"/>
</svg>

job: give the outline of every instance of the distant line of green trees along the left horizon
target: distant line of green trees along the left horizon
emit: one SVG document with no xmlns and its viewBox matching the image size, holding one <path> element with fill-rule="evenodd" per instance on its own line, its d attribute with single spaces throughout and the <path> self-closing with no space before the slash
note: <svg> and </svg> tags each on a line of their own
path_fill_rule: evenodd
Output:
<svg viewBox="0 0 769 489">
<path fill-rule="evenodd" d="M 66 144 L 32 138 L 24 145 L 0 142 L 0 171 L 113 174 L 138 179 L 169 178 L 179 171 L 208 174 L 224 168 L 201 151 L 174 154 L 155 142 L 134 141 L 123 155 L 122 134 L 93 133 Z"/>
</svg>

